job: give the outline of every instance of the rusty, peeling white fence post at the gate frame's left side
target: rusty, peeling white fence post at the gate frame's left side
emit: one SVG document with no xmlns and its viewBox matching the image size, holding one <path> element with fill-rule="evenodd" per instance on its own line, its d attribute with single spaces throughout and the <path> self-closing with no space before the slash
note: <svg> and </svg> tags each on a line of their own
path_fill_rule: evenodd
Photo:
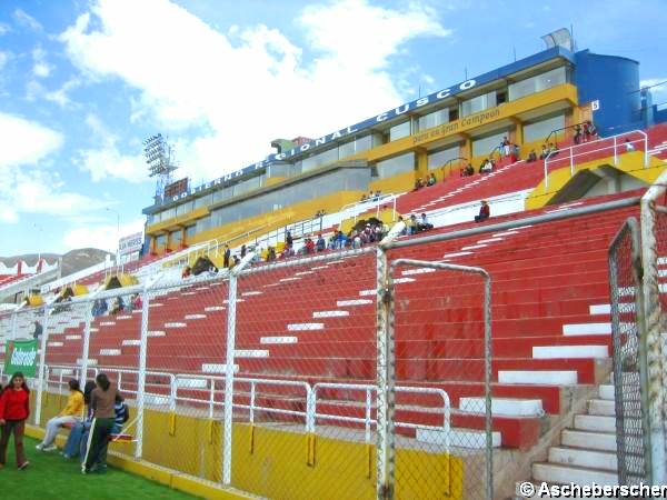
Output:
<svg viewBox="0 0 667 500">
<path fill-rule="evenodd" d="M 394 350 L 394 282 L 387 253 L 377 250 L 377 498 L 394 498 L 396 372 Z"/>
</svg>

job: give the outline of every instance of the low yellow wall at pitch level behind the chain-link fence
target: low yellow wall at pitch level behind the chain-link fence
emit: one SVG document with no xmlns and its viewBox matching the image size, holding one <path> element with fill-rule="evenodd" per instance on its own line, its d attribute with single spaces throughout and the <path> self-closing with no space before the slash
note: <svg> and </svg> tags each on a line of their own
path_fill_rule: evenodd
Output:
<svg viewBox="0 0 667 500">
<path fill-rule="evenodd" d="M 64 397 L 43 399 L 43 422 L 64 404 Z M 131 409 L 131 411 L 136 411 Z M 219 421 L 178 414 L 170 433 L 169 413 L 145 413 L 143 460 L 198 476 L 210 481 L 221 477 L 221 428 Z M 132 429 L 129 429 L 132 432 Z M 61 433 L 63 437 L 67 431 Z M 271 499 L 372 499 L 375 498 L 375 446 L 312 437 L 297 428 L 275 429 L 236 423 L 233 427 L 232 483 L 242 491 Z M 63 438 L 60 438 L 63 443 Z M 131 456 L 133 444 L 111 444 L 110 449 Z M 131 466 L 131 460 L 126 460 Z M 113 463 L 113 462 L 112 462 Z M 136 462 L 135 462 L 136 463 Z M 465 474 L 465 462 L 447 453 L 398 449 L 396 457 L 397 498 L 464 498 L 475 477 Z M 151 476 L 152 473 L 152 476 Z M 178 483 L 155 469 L 148 477 L 163 483 Z M 186 478 L 180 478 L 185 482 Z M 222 494 L 222 492 L 220 492 Z M 215 498 L 208 497 L 207 498 Z M 229 497 L 217 497 L 229 498 Z"/>
</svg>

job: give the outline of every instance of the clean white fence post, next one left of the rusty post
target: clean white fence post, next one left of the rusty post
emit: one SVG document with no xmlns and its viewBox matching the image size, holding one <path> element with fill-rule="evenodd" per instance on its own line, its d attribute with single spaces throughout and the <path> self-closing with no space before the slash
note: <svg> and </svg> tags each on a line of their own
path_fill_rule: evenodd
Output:
<svg viewBox="0 0 667 500">
<path fill-rule="evenodd" d="M 229 273 L 227 299 L 227 356 L 225 364 L 225 421 L 222 431 L 222 483 L 231 483 L 231 434 L 233 420 L 233 351 L 236 349 L 237 273 Z"/>
</svg>

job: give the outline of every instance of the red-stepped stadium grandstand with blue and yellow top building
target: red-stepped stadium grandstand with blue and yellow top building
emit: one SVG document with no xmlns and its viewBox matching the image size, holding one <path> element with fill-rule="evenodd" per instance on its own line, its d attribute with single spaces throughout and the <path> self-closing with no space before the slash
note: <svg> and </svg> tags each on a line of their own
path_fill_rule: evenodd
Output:
<svg viewBox="0 0 667 500">
<path fill-rule="evenodd" d="M 0 312 L 39 342 L 33 429 L 104 372 L 112 463 L 207 498 L 666 482 L 667 111 L 639 62 L 560 31 L 272 146 L 159 183 L 137 260 Z"/>
</svg>

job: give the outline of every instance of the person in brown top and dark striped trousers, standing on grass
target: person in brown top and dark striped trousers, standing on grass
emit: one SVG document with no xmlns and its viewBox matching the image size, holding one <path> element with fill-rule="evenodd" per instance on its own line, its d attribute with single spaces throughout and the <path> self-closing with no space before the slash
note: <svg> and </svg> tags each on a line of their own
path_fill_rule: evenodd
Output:
<svg viewBox="0 0 667 500">
<path fill-rule="evenodd" d="M 81 466 L 81 472 L 87 474 L 93 470 L 104 472 L 107 469 L 107 448 L 109 436 L 116 423 L 116 398 L 118 391 L 111 387 L 106 373 L 100 373 L 94 379 L 97 388 L 90 394 L 92 407 L 92 424 L 88 434 L 86 457 Z"/>
</svg>

